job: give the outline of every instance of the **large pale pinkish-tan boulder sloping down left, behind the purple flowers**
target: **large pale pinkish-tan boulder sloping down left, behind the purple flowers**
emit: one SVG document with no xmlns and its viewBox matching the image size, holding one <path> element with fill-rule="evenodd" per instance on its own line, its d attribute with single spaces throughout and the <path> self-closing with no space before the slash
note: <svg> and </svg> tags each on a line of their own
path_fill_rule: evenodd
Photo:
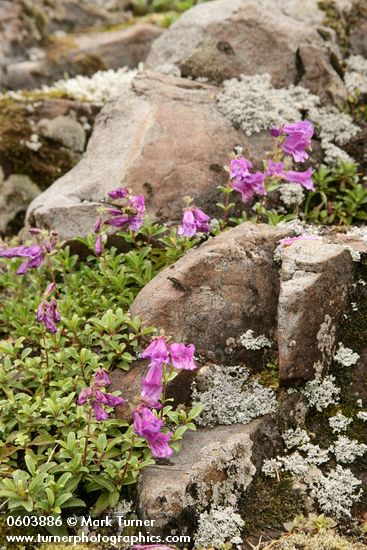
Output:
<svg viewBox="0 0 367 550">
<path fill-rule="evenodd" d="M 62 238 L 85 235 L 100 201 L 121 184 L 144 193 L 160 221 L 180 219 L 188 193 L 213 213 L 217 186 L 228 177 L 222 167 L 235 145 L 260 160 L 271 138 L 234 129 L 217 109 L 213 86 L 142 73 L 104 107 L 81 162 L 32 203 L 28 220 L 57 229 Z"/>
</svg>

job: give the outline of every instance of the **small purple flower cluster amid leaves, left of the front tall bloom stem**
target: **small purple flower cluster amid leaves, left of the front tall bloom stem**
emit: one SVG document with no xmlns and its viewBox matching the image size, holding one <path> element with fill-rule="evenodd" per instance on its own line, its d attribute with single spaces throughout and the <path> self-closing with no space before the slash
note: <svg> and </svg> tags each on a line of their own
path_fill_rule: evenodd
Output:
<svg viewBox="0 0 367 550">
<path fill-rule="evenodd" d="M 89 388 L 84 388 L 78 397 L 78 405 L 85 405 L 87 402 L 92 405 L 94 416 L 96 420 L 107 420 L 109 418 L 108 413 L 102 407 L 117 407 L 125 403 L 122 397 L 117 397 L 111 393 L 105 393 L 101 391 L 101 388 L 109 386 L 111 379 L 108 376 L 108 372 L 104 369 L 99 369 L 94 373 L 93 382 Z"/>
</svg>

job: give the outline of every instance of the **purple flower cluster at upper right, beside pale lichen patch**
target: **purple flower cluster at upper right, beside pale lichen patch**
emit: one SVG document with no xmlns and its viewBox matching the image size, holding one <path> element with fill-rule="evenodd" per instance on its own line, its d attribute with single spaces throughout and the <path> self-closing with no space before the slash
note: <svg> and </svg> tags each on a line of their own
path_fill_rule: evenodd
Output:
<svg viewBox="0 0 367 550">
<path fill-rule="evenodd" d="M 264 172 L 252 173 L 252 163 L 244 157 L 233 159 L 230 163 L 230 184 L 241 193 L 243 202 L 250 201 L 255 195 L 266 195 L 268 182 L 274 184 L 285 181 L 312 191 L 312 168 L 304 172 L 284 170 L 281 159 L 286 154 L 292 156 L 295 162 L 307 160 L 307 150 L 311 148 L 313 132 L 313 125 L 308 120 L 271 128 L 270 134 L 277 139 L 277 147 L 274 159 L 265 162 Z"/>
</svg>

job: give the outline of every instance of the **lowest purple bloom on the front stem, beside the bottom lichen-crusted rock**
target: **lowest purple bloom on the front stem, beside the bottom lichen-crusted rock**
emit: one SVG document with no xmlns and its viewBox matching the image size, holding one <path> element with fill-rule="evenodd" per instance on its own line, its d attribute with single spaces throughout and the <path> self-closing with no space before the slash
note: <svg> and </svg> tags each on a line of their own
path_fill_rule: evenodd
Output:
<svg viewBox="0 0 367 550">
<path fill-rule="evenodd" d="M 171 434 L 163 434 L 160 431 L 162 427 L 163 420 L 157 418 L 147 407 L 134 410 L 134 432 L 147 440 L 153 456 L 168 458 L 173 454 L 173 449 L 168 444 Z"/>
</svg>

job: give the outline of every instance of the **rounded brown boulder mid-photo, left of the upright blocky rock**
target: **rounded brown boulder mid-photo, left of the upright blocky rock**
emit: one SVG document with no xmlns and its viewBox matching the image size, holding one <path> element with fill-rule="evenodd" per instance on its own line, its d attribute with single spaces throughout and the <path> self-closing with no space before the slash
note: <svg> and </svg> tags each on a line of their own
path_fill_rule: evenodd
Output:
<svg viewBox="0 0 367 550">
<path fill-rule="evenodd" d="M 271 339 L 279 293 L 273 252 L 287 234 L 244 223 L 209 240 L 144 287 L 131 314 L 222 358 L 227 340 L 247 330 Z"/>
</svg>

